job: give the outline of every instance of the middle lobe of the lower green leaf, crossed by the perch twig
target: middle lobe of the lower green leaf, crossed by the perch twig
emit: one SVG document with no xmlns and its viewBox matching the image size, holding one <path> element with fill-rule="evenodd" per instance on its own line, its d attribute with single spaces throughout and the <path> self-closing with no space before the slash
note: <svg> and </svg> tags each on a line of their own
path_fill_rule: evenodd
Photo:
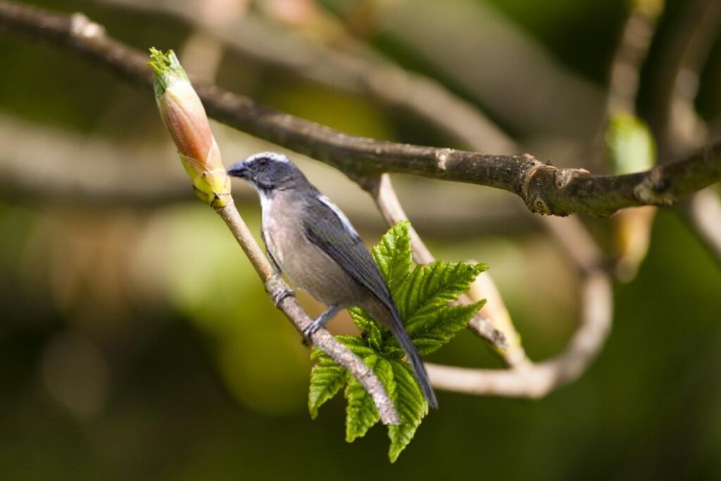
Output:
<svg viewBox="0 0 721 481">
<path fill-rule="evenodd" d="M 392 396 L 395 386 L 389 361 L 373 354 L 363 359 L 363 362 L 375 371 L 376 376 L 386 387 L 388 395 Z M 345 387 L 345 399 L 348 400 L 348 407 L 345 410 L 345 441 L 352 443 L 356 438 L 365 436 L 368 429 L 381 420 L 381 415 L 371 395 L 354 377 L 350 377 L 348 386 Z"/>
</svg>

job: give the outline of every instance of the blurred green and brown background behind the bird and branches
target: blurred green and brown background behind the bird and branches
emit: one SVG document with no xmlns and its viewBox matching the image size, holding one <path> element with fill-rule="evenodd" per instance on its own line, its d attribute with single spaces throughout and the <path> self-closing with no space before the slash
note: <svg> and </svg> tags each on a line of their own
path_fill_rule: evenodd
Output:
<svg viewBox="0 0 721 481">
<path fill-rule="evenodd" d="M 332 74 L 313 81 L 264 60 L 318 45 L 380 56 L 441 82 L 539 159 L 593 172 L 606 169 L 593 152 L 631 8 L 622 0 L 27 3 L 84 12 L 137 48 L 174 48 L 198 78 L 341 131 L 462 147 L 342 79 L 335 85 Z M 637 106 L 652 125 L 664 45 L 691 4 L 666 2 L 642 70 Z M 721 479 L 721 269 L 678 211 L 658 213 L 638 275 L 614 285 L 613 332 L 580 380 L 538 401 L 441 392 L 441 410 L 390 465 L 380 426 L 345 443 L 340 398 L 309 418 L 309 351 L 226 227 L 193 198 L 151 92 L 2 35 L 0 65 L 1 479 Z M 716 42 L 691 79 L 710 133 L 720 79 Z M 213 128 L 226 164 L 282 151 Z M 293 159 L 369 243 L 379 239 L 385 226 L 365 193 L 319 162 Z M 490 265 L 529 356 L 559 352 L 577 317 L 577 278 L 521 201 L 394 180 L 438 257 Z M 234 191 L 257 233 L 255 194 Z M 610 250 L 611 221 L 583 220 Z M 331 329 L 353 331 L 347 317 Z M 468 332 L 431 357 L 499 366 Z"/>
</svg>

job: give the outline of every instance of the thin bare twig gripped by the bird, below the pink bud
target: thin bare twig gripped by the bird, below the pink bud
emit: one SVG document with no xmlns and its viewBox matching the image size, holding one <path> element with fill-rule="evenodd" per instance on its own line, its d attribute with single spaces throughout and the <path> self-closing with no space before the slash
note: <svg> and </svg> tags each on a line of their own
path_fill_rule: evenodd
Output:
<svg viewBox="0 0 721 481">
<path fill-rule="evenodd" d="M 235 204 L 232 200 L 224 207 L 216 208 L 216 212 L 225 221 L 228 228 L 233 233 L 235 239 L 242 247 L 243 252 L 247 255 L 253 268 L 260 276 L 263 284 L 265 285 L 265 291 L 268 296 L 275 301 L 276 306 L 280 309 L 286 317 L 293 322 L 299 332 L 304 332 L 306 327 L 311 325 L 312 319 L 308 317 L 308 314 L 304 311 L 295 296 L 289 295 L 288 285 L 280 278 L 280 275 L 276 274 L 268 262 L 265 254 L 263 254 L 260 247 L 253 239 L 252 234 L 248 230 L 248 226 L 243 221 L 242 217 L 238 213 Z M 325 329 L 319 329 L 310 335 L 311 341 L 318 348 L 323 350 L 333 361 L 340 364 L 340 366 L 348 369 L 355 379 L 363 384 L 368 394 L 373 397 L 378 411 L 381 414 L 381 420 L 384 424 L 400 424 L 400 418 L 393 405 L 393 402 L 388 397 L 386 389 L 381 381 L 378 379 L 373 370 L 363 363 L 361 358 L 355 356 L 348 348 L 339 343 L 335 337 L 329 334 Z"/>
</svg>

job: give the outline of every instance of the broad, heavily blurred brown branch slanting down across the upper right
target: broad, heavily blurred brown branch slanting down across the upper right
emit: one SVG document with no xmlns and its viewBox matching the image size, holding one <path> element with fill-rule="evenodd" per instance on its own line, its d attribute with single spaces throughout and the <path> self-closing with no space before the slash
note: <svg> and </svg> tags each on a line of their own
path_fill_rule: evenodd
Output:
<svg viewBox="0 0 721 481">
<path fill-rule="evenodd" d="M 525 138 L 585 143 L 603 114 L 601 90 L 493 3 L 400 0 L 386 9 L 376 35 L 412 51 Z"/>
</svg>

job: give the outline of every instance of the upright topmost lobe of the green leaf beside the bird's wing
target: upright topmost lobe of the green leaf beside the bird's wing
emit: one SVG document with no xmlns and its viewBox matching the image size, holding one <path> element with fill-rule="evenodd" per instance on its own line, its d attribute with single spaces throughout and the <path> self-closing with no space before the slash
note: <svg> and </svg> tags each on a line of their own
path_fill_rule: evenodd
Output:
<svg viewBox="0 0 721 481">
<path fill-rule="evenodd" d="M 373 247 L 373 257 L 386 278 L 391 292 L 410 272 L 412 252 L 410 248 L 409 221 L 400 221 L 392 226 Z"/>
</svg>

